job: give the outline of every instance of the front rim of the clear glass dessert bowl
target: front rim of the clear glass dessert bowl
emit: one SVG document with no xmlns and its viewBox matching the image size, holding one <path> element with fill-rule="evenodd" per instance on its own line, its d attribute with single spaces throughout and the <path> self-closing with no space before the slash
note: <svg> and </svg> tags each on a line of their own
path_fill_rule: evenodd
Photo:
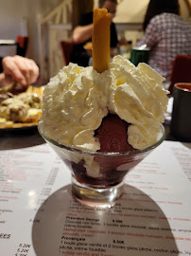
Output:
<svg viewBox="0 0 191 256">
<path fill-rule="evenodd" d="M 95 151 L 85 151 L 85 150 L 81 150 L 81 149 L 77 149 L 75 147 L 70 147 L 70 146 L 66 146 L 64 144 L 61 144 L 57 141 L 55 141 L 54 139 L 50 138 L 50 137 L 47 137 L 44 133 L 43 133 L 43 130 L 42 130 L 42 127 L 41 127 L 41 121 L 39 121 L 38 123 L 38 131 L 40 133 L 40 135 L 48 142 L 50 142 L 51 144 L 59 147 L 59 148 L 62 148 L 62 149 L 65 149 L 65 150 L 68 150 L 68 151 L 71 151 L 73 153 L 78 153 L 78 154 L 86 154 L 86 155 L 96 155 L 96 156 L 119 156 L 119 155 L 139 155 L 139 154 L 142 154 L 142 153 L 146 153 L 150 150 L 153 150 L 155 149 L 156 147 L 158 147 L 164 140 L 165 140 L 165 127 L 162 123 L 160 123 L 160 126 L 161 126 L 161 137 L 157 140 L 156 143 L 152 144 L 151 146 L 149 146 L 148 148 L 146 149 L 143 149 L 143 150 L 139 150 L 139 149 L 135 149 L 135 150 L 131 150 L 131 151 L 125 151 L 125 152 L 95 152 Z"/>
</svg>

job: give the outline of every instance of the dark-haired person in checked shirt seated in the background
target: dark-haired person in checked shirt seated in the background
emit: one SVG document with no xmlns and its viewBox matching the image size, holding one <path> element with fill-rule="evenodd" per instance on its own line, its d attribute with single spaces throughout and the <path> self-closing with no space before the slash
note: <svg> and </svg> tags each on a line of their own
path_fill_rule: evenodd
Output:
<svg viewBox="0 0 191 256">
<path fill-rule="evenodd" d="M 148 64 L 168 81 L 176 55 L 191 55 L 191 23 L 180 16 L 178 0 L 150 0 L 143 27 L 137 46 L 147 45 Z"/>
</svg>

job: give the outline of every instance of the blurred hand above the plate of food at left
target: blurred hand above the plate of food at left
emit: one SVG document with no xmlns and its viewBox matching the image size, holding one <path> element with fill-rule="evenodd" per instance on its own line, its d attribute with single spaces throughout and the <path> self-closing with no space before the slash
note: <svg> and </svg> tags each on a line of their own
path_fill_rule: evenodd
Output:
<svg viewBox="0 0 191 256">
<path fill-rule="evenodd" d="M 23 86 L 35 82 L 39 76 L 38 65 L 33 60 L 18 55 L 5 57 L 2 66 L 7 81 L 19 82 Z"/>
</svg>

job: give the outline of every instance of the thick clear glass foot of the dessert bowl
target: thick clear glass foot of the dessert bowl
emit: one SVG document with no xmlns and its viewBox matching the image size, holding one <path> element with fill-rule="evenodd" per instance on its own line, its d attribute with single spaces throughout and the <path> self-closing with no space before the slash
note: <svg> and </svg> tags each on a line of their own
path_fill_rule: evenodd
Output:
<svg viewBox="0 0 191 256">
<path fill-rule="evenodd" d="M 93 208 L 112 208 L 123 193 L 124 182 L 109 188 L 95 188 L 81 184 L 72 176 L 72 192 L 82 205 Z"/>
</svg>

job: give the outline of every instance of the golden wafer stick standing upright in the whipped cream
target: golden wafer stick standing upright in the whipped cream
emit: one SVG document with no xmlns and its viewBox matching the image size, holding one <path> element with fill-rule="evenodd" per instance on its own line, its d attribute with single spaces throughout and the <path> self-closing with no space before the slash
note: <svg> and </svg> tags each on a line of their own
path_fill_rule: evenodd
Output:
<svg viewBox="0 0 191 256">
<path fill-rule="evenodd" d="M 95 9 L 93 30 L 93 67 L 102 73 L 110 64 L 111 14 L 107 9 Z"/>
</svg>

